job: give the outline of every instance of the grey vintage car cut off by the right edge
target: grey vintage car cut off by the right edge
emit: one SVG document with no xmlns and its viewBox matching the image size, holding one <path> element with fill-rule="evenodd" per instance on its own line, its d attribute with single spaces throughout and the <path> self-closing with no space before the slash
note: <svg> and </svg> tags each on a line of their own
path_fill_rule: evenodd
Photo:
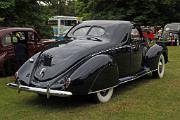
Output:
<svg viewBox="0 0 180 120">
<path fill-rule="evenodd" d="M 169 23 L 165 25 L 162 42 L 165 45 L 179 45 L 180 23 Z"/>
</svg>

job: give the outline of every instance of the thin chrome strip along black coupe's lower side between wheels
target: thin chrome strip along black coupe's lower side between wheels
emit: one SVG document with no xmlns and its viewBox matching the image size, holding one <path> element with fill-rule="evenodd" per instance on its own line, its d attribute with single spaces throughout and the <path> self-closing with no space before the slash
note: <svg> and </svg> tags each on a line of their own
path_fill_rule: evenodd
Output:
<svg viewBox="0 0 180 120">
<path fill-rule="evenodd" d="M 102 89 L 102 90 L 97 90 L 97 91 L 89 92 L 88 94 L 93 94 L 93 93 L 97 93 L 97 92 L 100 92 L 100 91 L 104 91 L 104 90 L 107 90 L 107 89 L 110 89 L 110 88 L 115 88 L 115 87 L 117 87 L 117 86 L 119 86 L 119 85 L 121 85 L 121 84 L 123 84 L 123 83 L 127 83 L 127 82 L 129 82 L 129 81 L 136 80 L 136 79 L 138 79 L 138 78 L 140 78 L 140 77 L 142 77 L 142 76 L 144 76 L 144 75 L 146 75 L 146 74 L 152 73 L 152 72 L 154 72 L 154 71 L 157 71 L 157 69 L 151 70 L 151 71 L 149 71 L 149 72 L 147 72 L 147 73 L 144 73 L 144 74 L 142 74 L 142 75 L 140 75 L 140 76 L 137 76 L 137 77 L 132 77 L 132 79 L 129 79 L 129 80 L 120 82 L 120 83 L 118 83 L 118 84 L 115 85 L 115 86 L 112 86 L 112 87 L 109 87 L 109 88 L 106 88 L 106 89 Z"/>
</svg>

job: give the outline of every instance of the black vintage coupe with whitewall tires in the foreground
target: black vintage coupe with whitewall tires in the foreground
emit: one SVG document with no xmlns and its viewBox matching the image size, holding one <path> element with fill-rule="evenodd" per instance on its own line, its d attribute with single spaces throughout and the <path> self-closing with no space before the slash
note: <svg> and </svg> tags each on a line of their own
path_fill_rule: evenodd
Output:
<svg viewBox="0 0 180 120">
<path fill-rule="evenodd" d="M 140 27 L 129 21 L 84 21 L 31 57 L 8 86 L 48 98 L 91 94 L 107 102 L 122 83 L 148 73 L 162 78 L 167 62 L 167 48 L 147 46 Z"/>
</svg>

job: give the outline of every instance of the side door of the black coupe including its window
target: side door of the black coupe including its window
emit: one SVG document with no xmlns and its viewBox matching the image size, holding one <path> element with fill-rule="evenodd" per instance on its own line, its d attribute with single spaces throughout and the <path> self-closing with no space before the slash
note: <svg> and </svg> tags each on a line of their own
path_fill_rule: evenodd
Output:
<svg viewBox="0 0 180 120">
<path fill-rule="evenodd" d="M 131 74 L 136 74 L 142 70 L 143 60 L 143 39 L 136 27 L 131 30 Z"/>
</svg>

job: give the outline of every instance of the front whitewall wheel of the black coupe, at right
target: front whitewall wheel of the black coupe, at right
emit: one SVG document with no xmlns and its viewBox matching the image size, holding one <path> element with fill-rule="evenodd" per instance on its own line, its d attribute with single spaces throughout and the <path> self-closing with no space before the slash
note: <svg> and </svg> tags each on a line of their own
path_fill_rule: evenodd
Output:
<svg viewBox="0 0 180 120">
<path fill-rule="evenodd" d="M 165 60 L 163 54 L 159 56 L 159 61 L 157 64 L 157 71 L 154 71 L 152 74 L 155 78 L 162 78 L 164 76 L 165 69 Z"/>
</svg>

